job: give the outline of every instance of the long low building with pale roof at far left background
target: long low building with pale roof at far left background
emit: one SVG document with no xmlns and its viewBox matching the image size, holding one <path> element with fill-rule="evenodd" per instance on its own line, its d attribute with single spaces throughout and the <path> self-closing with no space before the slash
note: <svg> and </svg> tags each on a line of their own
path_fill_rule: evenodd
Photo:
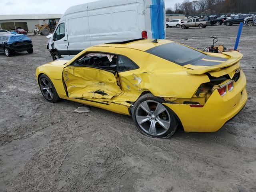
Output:
<svg viewBox="0 0 256 192">
<path fill-rule="evenodd" d="M 0 15 L 0 29 L 13 30 L 18 27 L 33 32 L 36 25 L 48 24 L 48 20 L 60 20 L 61 15 Z"/>
</svg>

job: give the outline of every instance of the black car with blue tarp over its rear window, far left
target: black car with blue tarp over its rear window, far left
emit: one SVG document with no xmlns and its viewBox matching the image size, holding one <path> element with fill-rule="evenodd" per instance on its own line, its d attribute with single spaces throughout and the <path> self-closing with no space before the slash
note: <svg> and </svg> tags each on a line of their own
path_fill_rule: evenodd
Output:
<svg viewBox="0 0 256 192">
<path fill-rule="evenodd" d="M 33 53 L 32 40 L 22 34 L 0 34 L 0 52 L 10 57 L 14 52 L 27 51 Z"/>
</svg>

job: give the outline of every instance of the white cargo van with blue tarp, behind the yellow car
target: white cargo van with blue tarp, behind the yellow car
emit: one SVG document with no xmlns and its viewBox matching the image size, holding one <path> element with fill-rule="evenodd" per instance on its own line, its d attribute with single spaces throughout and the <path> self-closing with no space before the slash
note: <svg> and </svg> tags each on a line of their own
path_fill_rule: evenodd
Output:
<svg viewBox="0 0 256 192">
<path fill-rule="evenodd" d="M 100 0 L 68 8 L 47 48 L 53 60 L 107 42 L 165 38 L 164 0 Z"/>
</svg>

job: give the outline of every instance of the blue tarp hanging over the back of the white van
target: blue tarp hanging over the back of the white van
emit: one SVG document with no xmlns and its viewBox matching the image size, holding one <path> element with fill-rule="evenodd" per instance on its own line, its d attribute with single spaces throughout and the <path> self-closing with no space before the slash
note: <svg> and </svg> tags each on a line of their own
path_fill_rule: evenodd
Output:
<svg viewBox="0 0 256 192">
<path fill-rule="evenodd" d="M 165 38 L 164 0 L 152 0 L 150 6 L 152 38 Z"/>
</svg>

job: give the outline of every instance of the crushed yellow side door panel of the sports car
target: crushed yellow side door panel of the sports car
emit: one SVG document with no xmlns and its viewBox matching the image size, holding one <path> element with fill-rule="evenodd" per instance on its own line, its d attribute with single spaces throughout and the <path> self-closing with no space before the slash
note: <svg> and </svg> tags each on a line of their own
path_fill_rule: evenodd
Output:
<svg viewBox="0 0 256 192">
<path fill-rule="evenodd" d="M 63 71 L 68 97 L 111 99 L 122 93 L 113 73 L 91 67 L 66 67 Z"/>
</svg>

